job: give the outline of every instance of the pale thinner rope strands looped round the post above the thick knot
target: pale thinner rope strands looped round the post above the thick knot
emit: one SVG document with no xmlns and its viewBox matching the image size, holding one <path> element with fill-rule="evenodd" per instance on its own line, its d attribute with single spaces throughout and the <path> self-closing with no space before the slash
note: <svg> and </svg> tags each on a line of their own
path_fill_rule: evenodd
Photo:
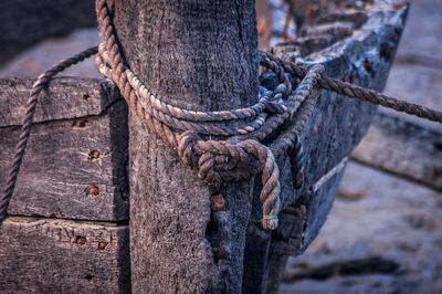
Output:
<svg viewBox="0 0 442 294">
<path fill-rule="evenodd" d="M 108 65 L 109 56 L 104 46 L 99 44 L 99 51 L 95 59 L 95 64 L 98 71 L 112 80 L 113 69 Z M 214 135 L 214 136 L 233 136 L 245 135 L 259 129 L 267 117 L 267 113 L 283 113 L 286 107 L 280 103 L 272 101 L 280 101 L 282 96 L 287 96 L 292 90 L 286 75 L 282 75 L 283 83 L 274 92 L 266 92 L 260 97 L 255 105 L 245 108 L 221 111 L 221 112 L 193 112 L 171 106 L 155 97 L 143 84 L 141 81 L 125 65 L 125 74 L 131 86 L 136 92 L 137 98 L 140 103 L 143 112 L 148 113 L 150 116 L 157 118 L 169 127 L 180 130 L 193 130 L 199 134 Z M 283 95 L 284 94 L 284 95 Z M 263 113 L 263 112 L 266 113 Z M 201 123 L 207 122 L 223 122 L 232 123 L 235 120 L 245 120 L 257 116 L 253 122 L 243 124 L 242 126 L 231 128 L 229 126 L 207 125 Z"/>
</svg>

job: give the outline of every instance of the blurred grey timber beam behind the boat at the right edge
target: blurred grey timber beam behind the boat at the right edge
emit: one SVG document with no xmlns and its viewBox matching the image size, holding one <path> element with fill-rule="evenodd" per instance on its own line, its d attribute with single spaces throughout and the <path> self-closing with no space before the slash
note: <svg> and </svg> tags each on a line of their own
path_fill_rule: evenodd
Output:
<svg viewBox="0 0 442 294">
<path fill-rule="evenodd" d="M 379 113 L 351 159 L 442 191 L 442 134 Z"/>
</svg>

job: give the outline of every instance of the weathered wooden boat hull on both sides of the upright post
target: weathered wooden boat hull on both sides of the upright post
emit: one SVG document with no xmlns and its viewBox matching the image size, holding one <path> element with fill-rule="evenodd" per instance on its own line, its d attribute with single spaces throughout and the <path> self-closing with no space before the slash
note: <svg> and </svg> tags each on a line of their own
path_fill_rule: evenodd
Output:
<svg viewBox="0 0 442 294">
<path fill-rule="evenodd" d="M 406 15 L 407 7 L 377 1 L 364 24 L 351 21 L 337 24 L 332 20 L 333 24 L 327 27 L 323 20 L 322 27 L 313 25 L 306 38 L 277 45 L 274 53 L 306 64 L 322 63 L 328 76 L 381 91 Z M 25 103 L 29 85 L 29 81 L 22 80 L 0 83 L 0 104 L 7 106 L 0 120 L 1 170 L 7 170 L 10 164 L 14 145 L 10 134 L 18 132 L 17 114 Z M 102 91 L 93 92 L 96 88 Z M 103 91 L 106 88 L 107 92 Z M 29 154 L 46 161 L 27 164 L 24 158 L 10 207 L 14 216 L 0 228 L 0 291 L 130 291 L 125 199 L 128 183 L 124 171 L 127 126 L 122 128 L 110 123 L 110 116 L 126 114 L 127 109 L 119 98 L 109 103 L 115 88 L 97 80 L 56 78 L 51 83 L 52 98 L 40 106 L 30 143 L 50 148 L 29 149 Z M 91 101 L 84 101 L 84 95 Z M 11 96 L 15 97 L 13 103 Z M 317 191 L 308 190 L 349 155 L 366 134 L 375 113 L 376 107 L 368 103 L 320 92 L 313 117 L 301 134 L 306 154 L 305 183 L 294 195 L 290 175 L 281 179 L 283 201 L 291 209 L 280 216 L 276 232 L 263 231 L 257 225 L 261 208 L 259 201 L 254 203 L 255 213 L 246 232 L 244 293 L 276 292 L 286 258 L 302 254 L 316 238 L 332 209 L 344 170 Z M 85 136 L 87 133 L 88 140 L 69 140 L 66 145 L 65 138 L 75 133 Z M 101 153 L 106 157 L 90 158 L 97 148 L 107 150 Z M 73 157 L 78 160 L 72 160 Z M 281 169 L 290 168 L 287 159 L 280 158 L 278 164 Z M 62 176 L 66 167 L 78 170 L 72 177 Z M 6 172 L 0 172 L 1 187 L 4 180 Z M 91 187 L 99 192 L 95 195 Z"/>
</svg>

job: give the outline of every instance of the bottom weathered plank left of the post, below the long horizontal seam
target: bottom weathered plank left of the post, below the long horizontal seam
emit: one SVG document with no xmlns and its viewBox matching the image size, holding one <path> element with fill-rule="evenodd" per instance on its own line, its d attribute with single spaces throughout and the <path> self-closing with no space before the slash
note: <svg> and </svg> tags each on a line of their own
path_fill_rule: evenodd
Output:
<svg viewBox="0 0 442 294">
<path fill-rule="evenodd" d="M 9 217 L 0 292 L 130 293 L 127 224 Z"/>
</svg>

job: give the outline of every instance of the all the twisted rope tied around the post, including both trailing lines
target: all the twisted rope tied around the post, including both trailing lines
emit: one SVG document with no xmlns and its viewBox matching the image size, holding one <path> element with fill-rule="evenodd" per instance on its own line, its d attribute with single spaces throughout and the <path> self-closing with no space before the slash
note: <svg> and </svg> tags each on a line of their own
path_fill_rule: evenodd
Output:
<svg viewBox="0 0 442 294">
<path fill-rule="evenodd" d="M 98 71 L 114 81 L 130 111 L 165 141 L 177 148 L 182 161 L 198 169 L 199 177 L 212 188 L 219 189 L 224 182 L 250 179 L 262 172 L 260 199 L 264 229 L 277 228 L 277 214 L 282 210 L 280 170 L 275 157 L 284 153 L 290 156 L 293 186 L 302 186 L 304 155 L 298 134 L 315 109 L 318 97 L 316 90 L 333 91 L 442 123 L 440 112 L 326 77 L 322 65 L 307 70 L 266 52 L 260 52 L 260 64 L 266 71 L 276 73 L 280 84 L 272 91 L 261 88 L 254 105 L 219 112 L 191 111 L 169 105 L 150 93 L 125 63 L 112 23 L 113 9 L 113 1 L 96 1 L 102 44 L 61 62 L 35 82 L 7 189 L 0 199 L 0 223 L 7 217 L 39 94 L 56 73 L 95 53 Z M 295 90 L 292 88 L 288 74 L 302 78 Z"/>
</svg>

